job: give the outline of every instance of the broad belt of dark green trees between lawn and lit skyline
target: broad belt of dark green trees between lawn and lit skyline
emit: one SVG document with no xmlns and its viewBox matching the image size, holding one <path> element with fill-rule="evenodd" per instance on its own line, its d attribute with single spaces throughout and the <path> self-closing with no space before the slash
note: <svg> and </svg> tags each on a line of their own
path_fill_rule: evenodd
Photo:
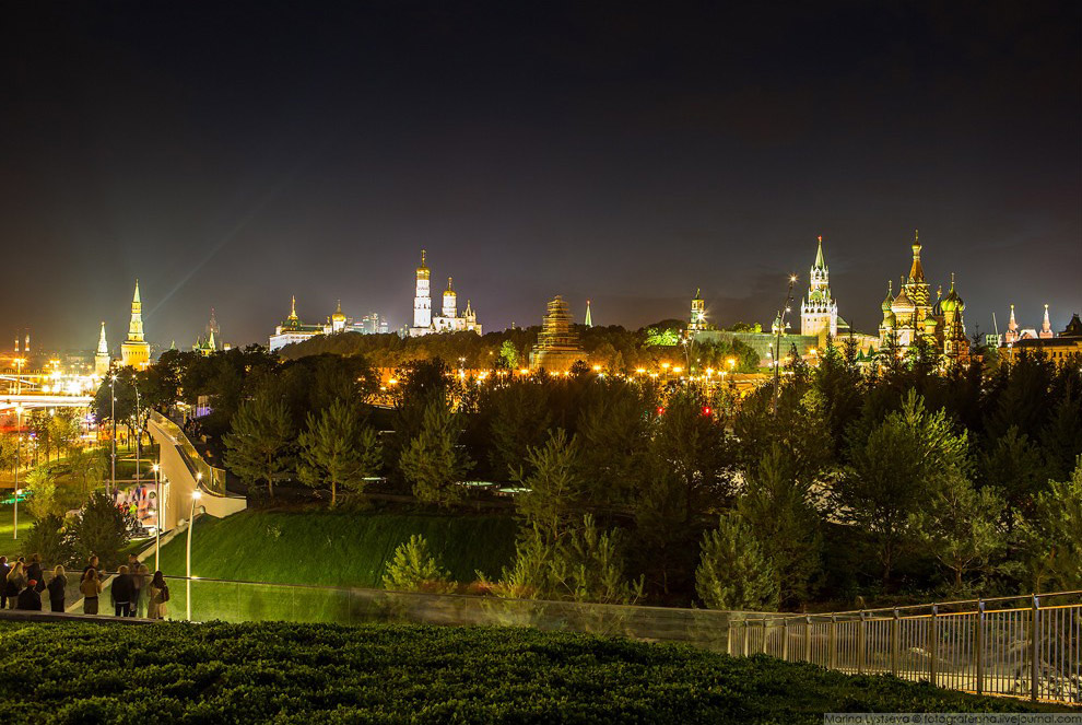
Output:
<svg viewBox="0 0 1082 725">
<path fill-rule="evenodd" d="M 868 371 L 828 346 L 815 369 L 790 362 L 776 399 L 738 400 L 585 366 L 478 385 L 426 360 L 398 371 L 388 412 L 364 404 L 363 358 L 266 360 L 228 362 L 234 472 L 336 502 L 376 479 L 443 506 L 467 479 L 517 486 L 502 590 L 796 608 L 1082 584 L 1078 366 L 1021 353 L 943 374 L 917 348 Z"/>
</svg>

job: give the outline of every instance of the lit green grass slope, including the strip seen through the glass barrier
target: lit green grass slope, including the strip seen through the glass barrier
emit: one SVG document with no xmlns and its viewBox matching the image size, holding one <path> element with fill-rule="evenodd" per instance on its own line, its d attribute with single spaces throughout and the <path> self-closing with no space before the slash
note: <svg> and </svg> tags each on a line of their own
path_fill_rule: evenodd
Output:
<svg viewBox="0 0 1082 725">
<path fill-rule="evenodd" d="M 201 577 L 283 584 L 383 586 L 395 549 L 420 534 L 444 569 L 461 583 L 478 570 L 497 576 L 515 552 L 518 524 L 506 516 L 439 516 L 404 513 L 293 513 L 247 511 L 227 518 L 200 517 L 192 531 L 192 574 Z M 162 549 L 162 571 L 185 574 L 186 539 Z M 146 560 L 153 565 L 153 552 Z M 170 587 L 170 610 L 183 617 L 185 586 Z M 351 603 L 321 594 L 232 584 L 192 584 L 198 620 L 309 619 L 343 621 Z M 346 612 L 348 613 L 348 612 Z"/>
</svg>

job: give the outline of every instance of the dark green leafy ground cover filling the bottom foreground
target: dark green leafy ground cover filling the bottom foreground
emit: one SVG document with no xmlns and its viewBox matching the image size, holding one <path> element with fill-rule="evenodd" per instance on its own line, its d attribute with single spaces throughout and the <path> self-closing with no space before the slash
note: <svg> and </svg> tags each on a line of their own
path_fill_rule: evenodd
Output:
<svg viewBox="0 0 1082 725">
<path fill-rule="evenodd" d="M 7 723 L 822 723 L 1019 712 L 889 677 L 527 629 L 0 622 Z"/>
</svg>

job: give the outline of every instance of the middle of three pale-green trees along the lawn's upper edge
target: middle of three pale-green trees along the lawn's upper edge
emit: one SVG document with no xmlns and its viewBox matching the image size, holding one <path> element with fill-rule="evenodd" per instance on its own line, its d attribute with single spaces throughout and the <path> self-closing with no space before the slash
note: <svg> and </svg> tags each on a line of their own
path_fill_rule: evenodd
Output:
<svg viewBox="0 0 1082 725">
<path fill-rule="evenodd" d="M 336 400 L 319 417 L 308 413 L 308 428 L 297 440 L 297 473 L 313 488 L 329 484 L 331 506 L 340 486 L 363 491 L 366 479 L 379 470 L 383 449 L 376 432 L 364 424 L 356 402 Z"/>
</svg>

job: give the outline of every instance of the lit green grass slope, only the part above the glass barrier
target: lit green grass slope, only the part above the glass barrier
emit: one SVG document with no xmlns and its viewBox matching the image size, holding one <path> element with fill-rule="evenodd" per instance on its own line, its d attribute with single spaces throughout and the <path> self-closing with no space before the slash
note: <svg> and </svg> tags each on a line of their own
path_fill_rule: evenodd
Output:
<svg viewBox="0 0 1082 725">
<path fill-rule="evenodd" d="M 480 570 L 499 574 L 515 553 L 518 524 L 507 516 L 412 513 L 246 511 L 227 518 L 202 516 L 192 530 L 197 576 L 381 587 L 395 549 L 420 534 L 458 582 Z M 148 563 L 153 564 L 153 556 Z M 162 571 L 185 574 L 185 537 L 162 550 Z"/>
</svg>

